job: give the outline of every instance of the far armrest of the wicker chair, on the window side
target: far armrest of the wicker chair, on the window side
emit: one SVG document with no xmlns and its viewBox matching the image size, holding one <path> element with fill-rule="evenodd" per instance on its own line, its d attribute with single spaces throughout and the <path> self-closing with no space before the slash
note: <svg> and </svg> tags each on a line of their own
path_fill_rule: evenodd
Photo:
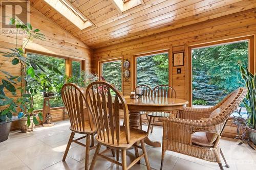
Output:
<svg viewBox="0 0 256 170">
<path fill-rule="evenodd" d="M 216 109 L 216 106 L 209 108 L 191 108 L 179 110 L 177 117 L 182 119 L 199 120 L 200 118 L 209 117 L 210 113 Z"/>
</svg>

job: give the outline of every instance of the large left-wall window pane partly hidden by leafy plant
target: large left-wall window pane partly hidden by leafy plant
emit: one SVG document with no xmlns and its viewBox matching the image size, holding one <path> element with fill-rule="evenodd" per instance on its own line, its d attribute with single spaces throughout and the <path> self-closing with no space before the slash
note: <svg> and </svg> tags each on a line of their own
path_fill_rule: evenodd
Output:
<svg viewBox="0 0 256 170">
<path fill-rule="evenodd" d="M 49 63 L 52 63 L 54 65 L 58 65 L 58 69 L 60 72 L 63 72 L 63 75 L 65 74 L 65 59 L 61 58 L 55 58 L 55 57 L 49 57 L 49 56 L 44 56 L 44 55 L 38 55 L 38 54 L 27 54 L 27 57 L 30 58 L 37 58 L 42 61 L 47 61 Z M 45 68 L 45 67 L 44 67 Z M 45 68 L 45 72 L 42 72 L 41 70 L 37 69 L 36 71 L 41 72 L 41 74 L 46 74 L 47 76 L 52 75 L 53 72 L 50 71 L 48 68 Z M 60 89 L 64 83 L 64 77 L 63 75 L 54 75 L 52 76 L 52 80 L 56 81 L 57 83 L 54 84 L 53 86 L 53 92 L 56 92 L 56 96 L 54 99 L 50 100 L 51 107 L 59 107 L 63 106 L 61 96 L 60 96 Z M 42 109 L 43 106 L 43 96 L 42 93 L 37 93 L 34 96 L 34 108 L 35 109 Z"/>
</svg>

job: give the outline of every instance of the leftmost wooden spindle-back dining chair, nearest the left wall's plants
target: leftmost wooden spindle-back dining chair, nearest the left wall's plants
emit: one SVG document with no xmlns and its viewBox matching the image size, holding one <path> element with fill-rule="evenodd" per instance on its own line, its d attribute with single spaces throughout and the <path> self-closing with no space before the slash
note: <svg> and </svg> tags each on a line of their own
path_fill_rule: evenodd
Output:
<svg viewBox="0 0 256 170">
<path fill-rule="evenodd" d="M 89 151 L 96 148 L 96 145 L 94 145 L 94 134 L 96 132 L 96 127 L 93 124 L 91 115 L 88 114 L 84 91 L 81 90 L 76 84 L 67 83 L 61 88 L 61 97 L 65 107 L 67 108 L 71 124 L 71 135 L 62 161 L 65 161 L 67 157 L 71 143 L 75 142 L 83 147 L 86 147 L 85 169 L 87 170 L 89 168 Z M 73 139 L 76 133 L 83 134 L 84 136 Z M 86 144 L 78 141 L 83 138 L 86 138 Z"/>
</svg>

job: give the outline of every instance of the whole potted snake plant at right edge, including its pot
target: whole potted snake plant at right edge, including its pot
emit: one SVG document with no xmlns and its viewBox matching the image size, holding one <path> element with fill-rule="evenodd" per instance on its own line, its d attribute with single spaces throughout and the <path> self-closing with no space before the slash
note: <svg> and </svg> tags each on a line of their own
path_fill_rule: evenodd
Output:
<svg viewBox="0 0 256 170">
<path fill-rule="evenodd" d="M 240 65 L 240 73 L 243 79 L 243 84 L 247 88 L 248 92 L 245 96 L 243 104 L 245 105 L 247 111 L 247 118 L 239 116 L 235 119 L 235 124 L 238 128 L 243 127 L 243 132 L 245 136 L 246 131 L 248 132 L 249 139 L 256 145 L 256 74 L 249 72 L 247 67 Z M 238 131 L 239 132 L 239 131 Z M 247 139 L 246 139 L 247 140 Z"/>
</svg>

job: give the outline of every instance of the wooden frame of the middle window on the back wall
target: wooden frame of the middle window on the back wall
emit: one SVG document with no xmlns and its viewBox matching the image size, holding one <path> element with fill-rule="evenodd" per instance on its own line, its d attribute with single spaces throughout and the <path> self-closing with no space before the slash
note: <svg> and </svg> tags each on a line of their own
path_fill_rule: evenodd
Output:
<svg viewBox="0 0 256 170">
<path fill-rule="evenodd" d="M 162 54 L 162 53 L 167 53 L 168 54 L 168 85 L 172 86 L 172 75 L 170 74 L 171 70 L 172 70 L 172 59 L 171 57 L 171 53 L 170 49 L 167 50 L 160 50 L 160 51 L 154 51 L 154 52 L 147 52 L 147 53 L 142 53 L 142 54 L 138 54 L 138 55 L 133 55 L 133 87 L 132 89 L 135 89 L 135 87 L 137 87 L 137 58 L 138 57 L 145 57 L 145 56 L 151 56 L 154 54 Z"/>
</svg>

